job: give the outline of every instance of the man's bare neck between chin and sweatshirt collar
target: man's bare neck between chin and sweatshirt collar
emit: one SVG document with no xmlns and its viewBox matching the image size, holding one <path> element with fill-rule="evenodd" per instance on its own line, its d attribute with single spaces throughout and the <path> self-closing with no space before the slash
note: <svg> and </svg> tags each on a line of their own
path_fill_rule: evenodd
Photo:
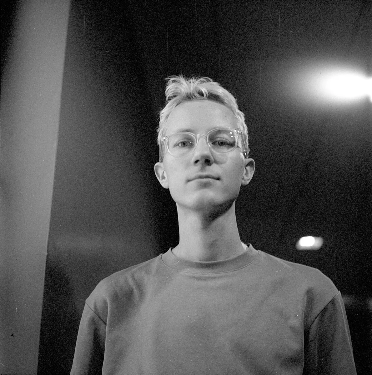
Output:
<svg viewBox="0 0 372 375">
<path fill-rule="evenodd" d="M 245 251 L 236 224 L 235 202 L 218 215 L 195 212 L 177 205 L 180 243 L 177 257 L 192 261 L 217 261 Z"/>
</svg>

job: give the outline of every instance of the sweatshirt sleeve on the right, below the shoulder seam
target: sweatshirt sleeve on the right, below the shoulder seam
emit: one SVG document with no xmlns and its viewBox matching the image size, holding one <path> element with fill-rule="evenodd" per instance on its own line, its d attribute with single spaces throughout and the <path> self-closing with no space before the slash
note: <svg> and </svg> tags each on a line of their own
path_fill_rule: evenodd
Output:
<svg viewBox="0 0 372 375">
<path fill-rule="evenodd" d="M 305 337 L 305 375 L 356 375 L 341 293 L 327 304 Z"/>
</svg>

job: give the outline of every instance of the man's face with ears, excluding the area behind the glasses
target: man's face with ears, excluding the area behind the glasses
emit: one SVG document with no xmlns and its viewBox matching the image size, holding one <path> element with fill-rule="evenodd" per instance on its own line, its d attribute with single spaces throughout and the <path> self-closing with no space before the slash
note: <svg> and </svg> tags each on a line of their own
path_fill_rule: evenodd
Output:
<svg viewBox="0 0 372 375">
<path fill-rule="evenodd" d="M 165 135 L 182 131 L 206 134 L 217 127 L 237 129 L 229 108 L 209 100 L 188 101 L 169 115 Z M 218 154 L 210 150 L 204 137 L 186 156 L 174 157 L 166 150 L 163 162 L 155 164 L 156 177 L 169 188 L 177 207 L 196 211 L 230 207 L 253 172 L 254 160 L 245 159 L 239 147 Z"/>
</svg>

